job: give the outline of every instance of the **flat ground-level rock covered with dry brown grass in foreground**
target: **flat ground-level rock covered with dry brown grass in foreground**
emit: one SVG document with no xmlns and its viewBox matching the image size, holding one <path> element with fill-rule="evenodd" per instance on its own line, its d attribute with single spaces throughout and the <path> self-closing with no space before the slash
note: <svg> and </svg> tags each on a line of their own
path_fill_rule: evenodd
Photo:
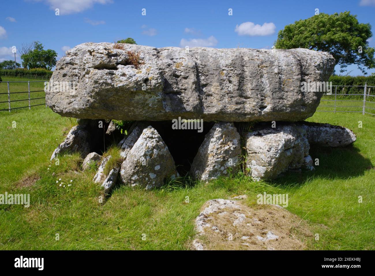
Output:
<svg viewBox="0 0 375 276">
<path fill-rule="evenodd" d="M 312 236 L 302 219 L 282 207 L 222 198 L 204 204 L 195 229 L 195 250 L 302 250 L 299 237 Z"/>
</svg>

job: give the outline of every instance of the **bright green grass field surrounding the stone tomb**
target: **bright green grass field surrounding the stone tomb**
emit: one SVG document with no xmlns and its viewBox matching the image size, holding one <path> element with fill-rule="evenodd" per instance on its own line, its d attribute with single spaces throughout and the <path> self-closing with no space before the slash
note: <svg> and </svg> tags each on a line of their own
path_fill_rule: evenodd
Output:
<svg viewBox="0 0 375 276">
<path fill-rule="evenodd" d="M 319 234 L 319 240 L 306 241 L 308 249 L 374 250 L 375 117 L 327 112 L 308 120 L 348 127 L 357 141 L 311 148 L 320 163 L 313 172 L 258 183 L 239 174 L 151 191 L 121 186 L 100 203 L 95 171 L 81 171 L 77 154 L 62 157 L 58 166 L 49 161 L 75 120 L 44 106 L 1 112 L 0 193 L 29 193 L 30 207 L 0 205 L 0 249 L 189 249 L 205 201 L 246 194 L 246 203 L 253 204 L 267 192 L 288 193 L 287 209 Z"/>
</svg>

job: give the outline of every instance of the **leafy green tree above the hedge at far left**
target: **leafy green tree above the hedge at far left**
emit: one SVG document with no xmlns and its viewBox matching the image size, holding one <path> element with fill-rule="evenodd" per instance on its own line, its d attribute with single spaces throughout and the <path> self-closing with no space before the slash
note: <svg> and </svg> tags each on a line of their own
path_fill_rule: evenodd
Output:
<svg viewBox="0 0 375 276">
<path fill-rule="evenodd" d="M 42 43 L 39 41 L 34 42 L 33 50 L 27 54 L 21 55 L 23 60 L 22 66 L 24 68 L 43 68 L 51 70 L 56 65 L 57 53 L 51 49 L 43 49 Z"/>
</svg>

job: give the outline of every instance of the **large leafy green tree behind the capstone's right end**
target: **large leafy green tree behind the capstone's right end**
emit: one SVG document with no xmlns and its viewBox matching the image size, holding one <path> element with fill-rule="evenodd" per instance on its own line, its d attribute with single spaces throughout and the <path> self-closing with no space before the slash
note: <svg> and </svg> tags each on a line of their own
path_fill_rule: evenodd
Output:
<svg viewBox="0 0 375 276">
<path fill-rule="evenodd" d="M 356 64 L 363 74 L 367 74 L 364 67 L 375 68 L 375 49 L 369 47 L 367 41 L 370 37 L 371 25 L 359 23 L 357 15 L 320 13 L 285 26 L 278 33 L 275 48 L 329 52 L 336 65 L 341 66 L 340 72 L 345 72 L 348 65 Z"/>
</svg>

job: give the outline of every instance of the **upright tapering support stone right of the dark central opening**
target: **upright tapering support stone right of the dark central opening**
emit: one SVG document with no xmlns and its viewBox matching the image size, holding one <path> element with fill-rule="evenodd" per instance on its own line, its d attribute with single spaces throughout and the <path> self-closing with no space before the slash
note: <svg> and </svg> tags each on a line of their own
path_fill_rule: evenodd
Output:
<svg viewBox="0 0 375 276">
<path fill-rule="evenodd" d="M 233 123 L 215 123 L 206 134 L 190 168 L 194 179 L 208 181 L 235 173 L 241 155 L 240 134 Z"/>
</svg>

